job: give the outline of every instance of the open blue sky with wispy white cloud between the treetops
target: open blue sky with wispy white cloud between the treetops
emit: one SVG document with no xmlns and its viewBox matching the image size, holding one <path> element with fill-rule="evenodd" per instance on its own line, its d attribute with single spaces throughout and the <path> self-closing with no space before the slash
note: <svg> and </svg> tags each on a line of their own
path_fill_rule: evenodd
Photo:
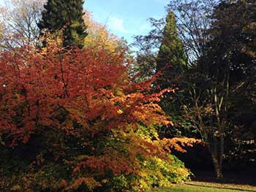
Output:
<svg viewBox="0 0 256 192">
<path fill-rule="evenodd" d="M 86 0 L 84 8 L 118 37 L 129 43 L 132 37 L 147 34 L 151 26 L 148 18 L 165 16 L 169 0 Z"/>
</svg>

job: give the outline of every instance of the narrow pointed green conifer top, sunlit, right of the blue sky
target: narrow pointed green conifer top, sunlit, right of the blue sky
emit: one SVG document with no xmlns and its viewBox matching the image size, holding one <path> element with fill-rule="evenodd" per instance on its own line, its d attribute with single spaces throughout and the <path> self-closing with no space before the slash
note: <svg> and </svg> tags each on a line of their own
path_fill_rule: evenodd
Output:
<svg viewBox="0 0 256 192">
<path fill-rule="evenodd" d="M 181 74 L 187 65 L 181 39 L 178 37 L 175 15 L 168 12 L 163 31 L 162 43 L 157 56 L 157 71 L 162 69 L 159 85 L 162 88 L 170 87 L 176 74 Z"/>
</svg>

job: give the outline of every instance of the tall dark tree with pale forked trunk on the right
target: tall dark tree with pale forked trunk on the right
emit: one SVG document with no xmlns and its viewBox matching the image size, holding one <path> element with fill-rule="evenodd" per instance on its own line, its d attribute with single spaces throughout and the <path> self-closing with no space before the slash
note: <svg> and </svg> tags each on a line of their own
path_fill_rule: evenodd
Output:
<svg viewBox="0 0 256 192">
<path fill-rule="evenodd" d="M 191 101 L 184 105 L 185 111 L 211 153 L 218 178 L 222 177 L 225 141 L 234 128 L 234 107 L 242 103 L 240 91 L 254 77 L 250 73 L 255 71 L 255 38 L 248 31 L 248 26 L 255 30 L 254 13 L 255 4 L 249 1 L 218 4 L 211 15 L 204 55 L 188 73 Z"/>
</svg>

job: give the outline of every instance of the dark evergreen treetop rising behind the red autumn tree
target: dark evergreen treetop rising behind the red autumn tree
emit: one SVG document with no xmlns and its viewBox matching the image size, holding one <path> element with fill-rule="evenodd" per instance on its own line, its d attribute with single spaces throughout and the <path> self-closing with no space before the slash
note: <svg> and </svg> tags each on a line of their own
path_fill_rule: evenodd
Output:
<svg viewBox="0 0 256 192">
<path fill-rule="evenodd" d="M 63 39 L 64 47 L 83 47 L 86 26 L 83 22 L 83 0 L 48 0 L 38 26 Z"/>
</svg>

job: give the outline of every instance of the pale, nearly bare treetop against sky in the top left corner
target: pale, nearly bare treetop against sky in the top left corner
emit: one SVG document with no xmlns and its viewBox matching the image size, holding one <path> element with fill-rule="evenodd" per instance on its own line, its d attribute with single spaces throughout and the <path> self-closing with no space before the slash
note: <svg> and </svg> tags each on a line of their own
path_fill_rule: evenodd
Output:
<svg viewBox="0 0 256 192">
<path fill-rule="evenodd" d="M 1 5 L 1 47 L 10 49 L 39 45 L 39 28 L 44 0 L 5 0 Z"/>
</svg>

